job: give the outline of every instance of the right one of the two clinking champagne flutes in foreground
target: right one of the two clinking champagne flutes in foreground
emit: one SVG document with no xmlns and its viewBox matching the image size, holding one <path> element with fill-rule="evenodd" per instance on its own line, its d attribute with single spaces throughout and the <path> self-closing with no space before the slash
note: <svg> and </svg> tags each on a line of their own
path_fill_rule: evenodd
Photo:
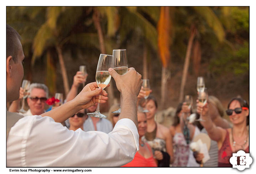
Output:
<svg viewBox="0 0 256 174">
<path fill-rule="evenodd" d="M 113 69 L 119 74 L 124 75 L 128 72 L 128 62 L 126 49 L 113 50 Z M 112 113 L 121 113 L 122 94 L 120 93 L 120 108 Z"/>
</svg>

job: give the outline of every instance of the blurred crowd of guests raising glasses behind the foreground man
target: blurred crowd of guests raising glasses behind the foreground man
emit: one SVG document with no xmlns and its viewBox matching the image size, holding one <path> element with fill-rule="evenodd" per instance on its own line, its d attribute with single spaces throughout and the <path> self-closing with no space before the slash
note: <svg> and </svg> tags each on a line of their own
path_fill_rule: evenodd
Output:
<svg viewBox="0 0 256 174">
<path fill-rule="evenodd" d="M 77 96 L 78 87 L 82 82 L 86 82 L 86 77 L 87 74 L 82 76 L 80 71 L 76 73 L 66 102 Z M 18 112 L 23 96 L 23 89 L 20 88 L 20 98 L 11 103 L 10 112 Z M 143 90 L 140 90 L 138 99 L 140 97 L 144 97 Z M 29 109 L 23 115 L 45 113 L 47 98 L 47 86 L 32 83 L 27 97 Z M 112 105 L 108 112 L 108 119 L 87 116 L 88 112 L 95 112 L 96 108 L 97 103 L 80 110 L 67 119 L 63 125 L 73 131 L 80 128 L 83 131 L 102 131 L 108 134 L 118 121 L 119 114 L 112 112 L 117 110 L 119 105 Z M 179 103 L 173 125 L 169 128 L 155 121 L 158 104 L 152 95 L 148 97 L 145 108 L 148 110 L 147 113 L 139 109 L 137 113 L 139 151 L 135 154 L 133 161 L 123 167 L 199 167 L 204 156 L 200 153 L 193 153 L 189 145 L 200 133 L 208 134 L 211 138 L 210 159 L 204 163 L 204 167 L 232 167 L 229 158 L 233 152 L 239 149 L 243 149 L 246 153 L 249 152 L 247 126 L 249 125 L 249 105 L 246 100 L 234 98 L 230 101 L 226 114 L 230 116 L 231 123 L 223 118 L 224 107 L 214 96 L 208 97 L 205 107 L 200 107 L 200 105 L 196 107 L 197 118 L 202 114 L 202 119 L 205 121 L 188 124 L 186 118 L 192 114 L 192 110 L 186 103 Z"/>
</svg>

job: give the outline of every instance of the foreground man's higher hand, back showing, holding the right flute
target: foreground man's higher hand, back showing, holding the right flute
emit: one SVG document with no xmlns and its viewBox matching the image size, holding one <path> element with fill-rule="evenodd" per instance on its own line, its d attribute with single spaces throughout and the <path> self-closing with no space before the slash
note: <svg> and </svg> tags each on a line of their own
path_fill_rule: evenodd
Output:
<svg viewBox="0 0 256 174">
<path fill-rule="evenodd" d="M 142 76 L 133 67 L 129 68 L 128 72 L 122 76 L 117 74 L 113 68 L 109 68 L 108 71 L 116 81 L 117 89 L 123 97 L 132 96 L 137 98 L 142 86 Z"/>
</svg>

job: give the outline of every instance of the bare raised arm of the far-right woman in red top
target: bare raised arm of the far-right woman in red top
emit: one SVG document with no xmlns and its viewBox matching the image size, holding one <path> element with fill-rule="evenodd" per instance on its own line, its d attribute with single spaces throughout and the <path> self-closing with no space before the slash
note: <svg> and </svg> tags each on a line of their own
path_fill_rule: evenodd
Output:
<svg viewBox="0 0 256 174">
<path fill-rule="evenodd" d="M 201 114 L 201 119 L 205 120 L 205 121 L 200 121 L 200 123 L 202 126 L 204 126 L 204 128 L 208 132 L 209 137 L 214 141 L 223 142 L 225 139 L 226 130 L 221 127 L 217 127 L 213 123 L 209 115 L 208 103 L 206 103 L 204 107 L 201 107 L 201 105 L 197 101 L 196 105 L 197 105 L 196 112 Z"/>
</svg>

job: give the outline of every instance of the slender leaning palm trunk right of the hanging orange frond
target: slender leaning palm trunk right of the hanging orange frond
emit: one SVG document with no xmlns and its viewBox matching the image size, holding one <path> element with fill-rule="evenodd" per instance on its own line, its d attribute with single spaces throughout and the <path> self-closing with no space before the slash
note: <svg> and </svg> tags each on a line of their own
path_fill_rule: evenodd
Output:
<svg viewBox="0 0 256 174">
<path fill-rule="evenodd" d="M 189 41 L 188 41 L 188 47 L 186 50 L 185 62 L 184 62 L 184 66 L 183 66 L 183 74 L 182 74 L 182 78 L 181 78 L 179 102 L 182 101 L 183 95 L 184 95 L 184 87 L 186 85 L 186 78 L 188 75 L 188 68 L 189 68 L 189 59 L 190 59 L 191 49 L 192 49 L 192 45 L 193 45 L 193 40 L 195 38 L 195 33 L 196 33 L 196 29 L 192 26 Z"/>
</svg>

